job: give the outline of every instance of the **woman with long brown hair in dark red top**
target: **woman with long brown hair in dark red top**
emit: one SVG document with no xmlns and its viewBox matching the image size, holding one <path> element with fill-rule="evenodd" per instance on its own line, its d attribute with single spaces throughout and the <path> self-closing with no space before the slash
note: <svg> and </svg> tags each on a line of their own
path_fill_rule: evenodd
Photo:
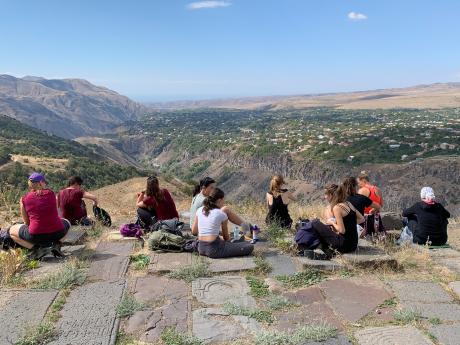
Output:
<svg viewBox="0 0 460 345">
<path fill-rule="evenodd" d="M 179 219 L 171 194 L 166 188 L 160 188 L 156 176 L 150 176 L 145 191 L 137 194 L 137 207 L 137 215 L 145 228 L 154 225 L 155 221 Z"/>
</svg>

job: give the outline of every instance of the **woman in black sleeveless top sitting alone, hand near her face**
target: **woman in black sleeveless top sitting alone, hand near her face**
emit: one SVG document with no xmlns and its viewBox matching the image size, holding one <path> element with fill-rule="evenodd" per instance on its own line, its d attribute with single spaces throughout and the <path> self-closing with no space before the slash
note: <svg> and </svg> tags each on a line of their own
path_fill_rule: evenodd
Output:
<svg viewBox="0 0 460 345">
<path fill-rule="evenodd" d="M 291 201 L 296 201 L 292 192 L 283 189 L 285 185 L 281 175 L 275 175 L 270 181 L 270 190 L 266 195 L 268 214 L 265 222 L 268 224 L 278 224 L 282 228 L 290 229 L 292 219 L 289 215 L 288 205 Z"/>
</svg>

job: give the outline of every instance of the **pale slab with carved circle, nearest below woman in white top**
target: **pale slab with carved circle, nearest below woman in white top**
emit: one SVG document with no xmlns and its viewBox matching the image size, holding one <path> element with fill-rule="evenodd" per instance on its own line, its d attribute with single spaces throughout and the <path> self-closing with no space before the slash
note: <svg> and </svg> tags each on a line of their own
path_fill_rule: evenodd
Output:
<svg viewBox="0 0 460 345">
<path fill-rule="evenodd" d="M 207 305 L 232 302 L 244 307 L 255 307 L 256 301 L 248 295 L 249 291 L 246 279 L 239 276 L 199 278 L 192 282 L 192 295 Z"/>
</svg>

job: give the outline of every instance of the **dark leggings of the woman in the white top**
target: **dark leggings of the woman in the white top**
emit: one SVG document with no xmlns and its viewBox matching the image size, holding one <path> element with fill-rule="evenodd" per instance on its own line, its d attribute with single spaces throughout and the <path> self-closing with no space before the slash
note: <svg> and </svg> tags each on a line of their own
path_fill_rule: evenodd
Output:
<svg viewBox="0 0 460 345">
<path fill-rule="evenodd" d="M 254 250 L 254 246 L 248 242 L 227 242 L 217 238 L 213 242 L 198 242 L 198 252 L 200 255 L 207 256 L 212 259 L 228 258 L 233 256 L 250 255 Z"/>
</svg>

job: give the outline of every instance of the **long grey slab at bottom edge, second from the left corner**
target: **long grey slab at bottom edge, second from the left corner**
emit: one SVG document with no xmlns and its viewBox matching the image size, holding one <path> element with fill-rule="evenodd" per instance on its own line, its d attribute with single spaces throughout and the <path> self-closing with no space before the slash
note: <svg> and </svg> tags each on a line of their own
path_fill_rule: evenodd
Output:
<svg viewBox="0 0 460 345">
<path fill-rule="evenodd" d="M 56 324 L 58 337 L 49 345 L 111 345 L 118 332 L 116 307 L 124 280 L 80 286 L 67 297 Z"/>
</svg>

